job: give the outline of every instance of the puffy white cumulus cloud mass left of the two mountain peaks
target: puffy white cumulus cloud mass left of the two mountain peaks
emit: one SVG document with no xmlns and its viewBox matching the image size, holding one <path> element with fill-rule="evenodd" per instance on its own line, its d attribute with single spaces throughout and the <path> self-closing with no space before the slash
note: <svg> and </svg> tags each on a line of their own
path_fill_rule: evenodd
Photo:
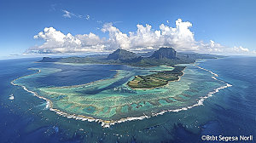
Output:
<svg viewBox="0 0 256 143">
<path fill-rule="evenodd" d="M 41 38 L 44 44 L 34 46 L 29 50 L 38 50 L 40 53 L 76 53 L 76 52 L 101 52 L 105 45 L 103 40 L 94 33 L 73 36 L 67 35 L 55 28 L 44 28 L 34 38 Z"/>
</svg>

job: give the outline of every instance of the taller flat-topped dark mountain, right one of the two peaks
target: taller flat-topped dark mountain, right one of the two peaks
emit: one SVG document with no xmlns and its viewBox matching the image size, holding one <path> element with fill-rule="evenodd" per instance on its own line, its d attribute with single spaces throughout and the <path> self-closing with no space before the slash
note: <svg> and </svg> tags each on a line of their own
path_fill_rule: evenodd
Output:
<svg viewBox="0 0 256 143">
<path fill-rule="evenodd" d="M 154 59 L 177 59 L 175 49 L 172 48 L 160 48 L 150 56 Z"/>
</svg>

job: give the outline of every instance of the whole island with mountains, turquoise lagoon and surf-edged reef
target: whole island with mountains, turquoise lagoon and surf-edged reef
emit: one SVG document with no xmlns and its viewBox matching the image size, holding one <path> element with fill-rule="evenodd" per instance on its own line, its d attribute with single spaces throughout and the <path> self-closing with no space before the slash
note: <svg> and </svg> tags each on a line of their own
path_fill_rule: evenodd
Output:
<svg viewBox="0 0 256 143">
<path fill-rule="evenodd" d="M 117 49 L 111 54 L 84 57 L 44 57 L 37 68 L 31 68 L 34 73 L 11 83 L 46 100 L 45 108 L 63 117 L 109 127 L 198 106 L 218 89 L 229 87 L 215 73 L 191 64 L 220 57 L 172 48 L 148 53 Z M 44 83 L 49 80 L 51 83 Z"/>
</svg>

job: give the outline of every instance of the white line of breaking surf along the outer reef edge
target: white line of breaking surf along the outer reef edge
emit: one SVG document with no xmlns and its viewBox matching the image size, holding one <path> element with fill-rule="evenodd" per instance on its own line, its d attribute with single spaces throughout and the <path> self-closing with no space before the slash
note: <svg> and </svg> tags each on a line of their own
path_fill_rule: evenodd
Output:
<svg viewBox="0 0 256 143">
<path fill-rule="evenodd" d="M 221 81 L 219 79 L 217 79 L 218 77 L 218 74 L 210 71 L 210 70 L 207 70 L 205 68 L 202 68 L 201 66 L 197 66 L 197 65 L 193 65 L 195 67 L 198 67 L 199 69 L 201 70 L 204 70 L 204 71 L 207 71 L 207 72 L 210 72 L 212 75 L 213 75 L 213 79 L 214 80 L 218 80 L 218 81 Z M 36 73 L 32 73 L 30 75 L 26 75 L 26 76 L 22 76 L 22 77 L 28 77 L 28 76 L 32 76 L 34 74 L 38 74 L 40 73 L 41 71 L 39 69 L 29 69 L 29 70 L 38 70 L 38 72 Z M 183 73 L 184 74 L 184 73 Z M 203 101 L 206 100 L 207 98 L 211 97 L 212 94 L 215 94 L 215 93 L 218 93 L 220 89 L 226 89 L 228 87 L 231 87 L 232 85 L 229 84 L 229 83 L 225 83 L 224 81 L 221 81 L 223 83 L 225 83 L 224 86 L 221 86 L 217 89 L 213 89 L 213 91 L 209 92 L 206 96 L 202 96 L 200 97 L 199 100 L 197 100 L 196 104 L 192 105 L 192 106 L 185 106 L 185 107 L 182 107 L 182 108 L 177 108 L 177 109 L 170 109 L 170 110 L 164 110 L 164 111 L 161 111 L 161 112 L 157 112 L 157 113 L 152 113 L 150 116 L 148 115 L 143 115 L 143 116 L 139 116 L 139 117 L 125 117 L 125 118 L 120 118 L 119 120 L 103 120 L 103 119 L 100 119 L 100 118 L 95 118 L 95 117 L 86 117 L 84 115 L 76 115 L 76 114 L 69 114 L 67 112 L 62 112 L 61 110 L 59 109 L 55 109 L 53 108 L 53 103 L 51 100 L 43 97 L 43 96 L 40 96 L 38 93 L 34 92 L 34 91 L 31 91 L 31 90 L 28 90 L 24 85 L 18 85 L 18 84 L 15 84 L 14 82 L 18 79 L 20 79 L 21 77 L 18 77 L 16 78 L 15 80 L 11 81 L 10 83 L 15 85 L 15 86 L 20 86 L 22 87 L 24 90 L 26 90 L 27 92 L 29 93 L 32 93 L 33 95 L 37 96 L 39 99 L 43 99 L 43 100 L 46 100 L 46 106 L 49 107 L 49 111 L 51 112 L 55 112 L 56 114 L 62 116 L 62 117 L 67 117 L 67 118 L 73 118 L 73 119 L 76 119 L 76 120 L 81 120 L 81 121 L 88 121 L 88 122 L 96 122 L 96 123 L 101 123 L 102 125 L 102 128 L 109 128 L 111 125 L 115 124 L 115 123 L 124 123 L 126 121 L 132 121 L 132 120 L 143 120 L 144 118 L 150 118 L 150 117 L 156 117 L 158 115 L 163 115 L 164 113 L 166 112 L 180 112 L 180 111 L 185 111 L 185 110 L 188 110 L 188 109 L 191 109 L 195 106 L 201 106 L 203 105 Z M 180 77 L 178 79 L 178 81 L 180 80 Z M 167 85 L 167 84 L 166 84 Z M 164 85 L 164 86 L 166 86 Z"/>
</svg>

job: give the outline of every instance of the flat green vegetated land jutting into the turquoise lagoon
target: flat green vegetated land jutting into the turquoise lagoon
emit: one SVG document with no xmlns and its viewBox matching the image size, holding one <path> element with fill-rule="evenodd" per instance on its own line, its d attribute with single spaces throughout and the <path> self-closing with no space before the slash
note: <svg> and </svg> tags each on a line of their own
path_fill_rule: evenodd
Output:
<svg viewBox="0 0 256 143">
<path fill-rule="evenodd" d="M 186 66 L 173 66 L 172 71 L 155 72 L 147 76 L 135 76 L 128 83 L 131 89 L 153 89 L 169 82 L 177 81 L 180 76 L 183 76 L 183 70 Z M 154 71 L 152 71 L 154 72 Z"/>
</svg>

